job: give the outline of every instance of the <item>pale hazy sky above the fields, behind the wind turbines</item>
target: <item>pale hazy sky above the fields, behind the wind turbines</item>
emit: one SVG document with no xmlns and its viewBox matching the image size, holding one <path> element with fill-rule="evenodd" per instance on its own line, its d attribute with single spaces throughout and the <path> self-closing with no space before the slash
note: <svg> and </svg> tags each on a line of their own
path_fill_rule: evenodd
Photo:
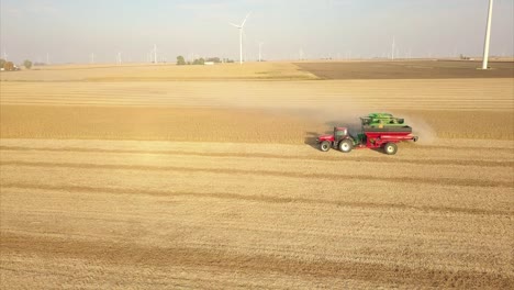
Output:
<svg viewBox="0 0 514 290">
<path fill-rule="evenodd" d="M 0 0 L 0 51 L 8 58 L 52 63 L 143 62 L 159 58 L 238 58 L 264 42 L 267 59 L 381 57 L 395 37 L 400 56 L 481 55 L 489 0 Z M 495 0 L 493 55 L 513 55 L 514 1 Z"/>
</svg>

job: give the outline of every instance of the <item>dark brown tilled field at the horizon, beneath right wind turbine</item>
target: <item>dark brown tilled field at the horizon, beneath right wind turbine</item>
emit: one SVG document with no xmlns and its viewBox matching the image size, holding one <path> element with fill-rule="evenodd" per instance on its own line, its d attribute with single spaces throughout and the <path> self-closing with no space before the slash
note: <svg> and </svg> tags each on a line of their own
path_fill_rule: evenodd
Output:
<svg viewBox="0 0 514 290">
<path fill-rule="evenodd" d="M 409 60 L 361 63 L 297 63 L 322 79 L 447 79 L 514 78 L 513 62 L 490 62 L 490 70 L 478 69 L 481 62 Z"/>
</svg>

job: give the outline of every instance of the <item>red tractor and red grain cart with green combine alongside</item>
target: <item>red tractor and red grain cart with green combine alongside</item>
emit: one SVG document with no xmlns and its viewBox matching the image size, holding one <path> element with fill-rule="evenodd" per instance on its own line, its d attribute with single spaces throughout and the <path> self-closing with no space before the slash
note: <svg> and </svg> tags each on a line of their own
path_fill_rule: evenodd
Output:
<svg viewBox="0 0 514 290">
<path fill-rule="evenodd" d="M 347 127 L 334 127 L 334 134 L 317 137 L 320 149 L 327 152 L 338 148 L 349 153 L 354 148 L 383 148 L 388 155 L 396 154 L 396 143 L 402 141 L 417 141 L 412 135 L 412 129 L 404 124 L 403 119 L 387 113 L 372 113 L 360 118 L 361 133 L 351 135 Z"/>
</svg>

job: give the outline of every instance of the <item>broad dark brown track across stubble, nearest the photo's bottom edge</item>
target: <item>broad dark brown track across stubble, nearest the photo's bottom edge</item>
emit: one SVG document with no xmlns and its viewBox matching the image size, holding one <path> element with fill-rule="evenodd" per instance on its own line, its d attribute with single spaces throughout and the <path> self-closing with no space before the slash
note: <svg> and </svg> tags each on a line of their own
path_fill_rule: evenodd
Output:
<svg viewBox="0 0 514 290">
<path fill-rule="evenodd" d="M 242 254 L 223 249 L 185 246 L 146 246 L 125 242 L 80 241 L 24 233 L 2 232 L 3 255 L 36 255 L 52 259 L 92 259 L 108 264 L 153 267 L 192 266 L 247 275 L 280 274 L 316 278 L 340 278 L 379 283 L 424 287 L 509 288 L 510 276 L 473 270 L 431 269 L 406 267 L 389 263 L 365 263 L 324 258 L 312 260 L 287 258 L 280 255 Z M 280 254 L 277 253 L 277 254 Z"/>
</svg>

